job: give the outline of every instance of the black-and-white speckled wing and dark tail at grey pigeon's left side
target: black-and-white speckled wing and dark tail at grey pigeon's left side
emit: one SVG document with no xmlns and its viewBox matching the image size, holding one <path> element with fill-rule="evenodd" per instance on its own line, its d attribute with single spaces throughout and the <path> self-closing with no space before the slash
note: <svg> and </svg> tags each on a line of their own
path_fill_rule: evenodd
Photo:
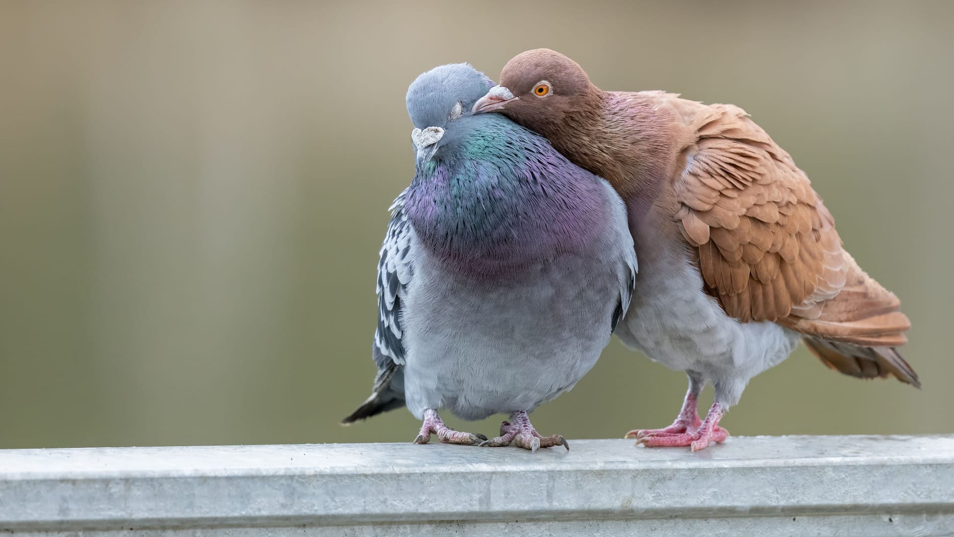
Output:
<svg viewBox="0 0 954 537">
<path fill-rule="evenodd" d="M 351 423 L 404 406 L 404 344 L 401 328 L 401 296 L 414 275 L 410 255 L 414 228 L 404 215 L 404 189 L 391 204 L 391 221 L 384 235 L 378 262 L 378 329 L 374 333 L 371 354 L 378 364 L 371 397 L 358 410 L 342 420 Z"/>
</svg>

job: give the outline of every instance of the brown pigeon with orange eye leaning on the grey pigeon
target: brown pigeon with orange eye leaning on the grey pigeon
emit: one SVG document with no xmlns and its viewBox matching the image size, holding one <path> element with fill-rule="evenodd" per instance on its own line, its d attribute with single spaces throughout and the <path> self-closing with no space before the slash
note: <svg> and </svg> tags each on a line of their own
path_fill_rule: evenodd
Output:
<svg viewBox="0 0 954 537">
<path fill-rule="evenodd" d="M 910 328 L 900 301 L 841 247 L 808 177 L 740 108 L 603 91 L 567 56 L 537 49 L 511 59 L 473 112 L 542 134 L 627 204 L 640 270 L 615 333 L 689 376 L 674 423 L 628 438 L 693 451 L 725 440 L 723 413 L 799 339 L 845 375 L 920 386 L 895 349 Z M 707 383 L 716 397 L 703 421 Z"/>
</svg>

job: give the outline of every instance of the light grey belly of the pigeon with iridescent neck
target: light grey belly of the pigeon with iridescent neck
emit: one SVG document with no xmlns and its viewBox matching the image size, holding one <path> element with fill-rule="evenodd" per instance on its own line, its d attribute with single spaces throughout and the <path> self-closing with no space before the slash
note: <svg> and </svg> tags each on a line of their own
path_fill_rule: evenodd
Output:
<svg viewBox="0 0 954 537">
<path fill-rule="evenodd" d="M 404 297 L 404 395 L 418 418 L 425 408 L 464 419 L 530 411 L 569 390 L 609 342 L 621 256 L 567 254 L 480 281 L 418 255 Z"/>
</svg>

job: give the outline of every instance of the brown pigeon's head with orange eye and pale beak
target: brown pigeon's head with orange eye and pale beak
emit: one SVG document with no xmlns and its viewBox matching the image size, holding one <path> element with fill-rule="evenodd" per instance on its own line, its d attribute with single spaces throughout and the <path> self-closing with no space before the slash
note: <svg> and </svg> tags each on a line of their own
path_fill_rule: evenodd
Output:
<svg viewBox="0 0 954 537">
<path fill-rule="evenodd" d="M 534 49 L 507 62 L 500 85 L 474 103 L 473 113 L 498 112 L 549 138 L 568 113 L 590 108 L 598 94 L 578 63 L 550 49 Z"/>
</svg>

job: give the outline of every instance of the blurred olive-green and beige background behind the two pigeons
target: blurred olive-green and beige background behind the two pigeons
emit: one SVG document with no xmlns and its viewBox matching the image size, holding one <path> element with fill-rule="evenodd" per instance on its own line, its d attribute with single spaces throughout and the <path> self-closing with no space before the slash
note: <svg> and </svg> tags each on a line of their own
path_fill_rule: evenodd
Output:
<svg viewBox="0 0 954 537">
<path fill-rule="evenodd" d="M 0 3 L 0 446 L 412 440 L 404 410 L 338 424 L 375 373 L 404 92 L 542 46 L 605 89 L 745 108 L 902 297 L 923 390 L 802 349 L 733 434 L 954 432 L 954 3 L 663 4 Z M 614 340 L 533 419 L 619 437 L 684 390 Z"/>
</svg>

